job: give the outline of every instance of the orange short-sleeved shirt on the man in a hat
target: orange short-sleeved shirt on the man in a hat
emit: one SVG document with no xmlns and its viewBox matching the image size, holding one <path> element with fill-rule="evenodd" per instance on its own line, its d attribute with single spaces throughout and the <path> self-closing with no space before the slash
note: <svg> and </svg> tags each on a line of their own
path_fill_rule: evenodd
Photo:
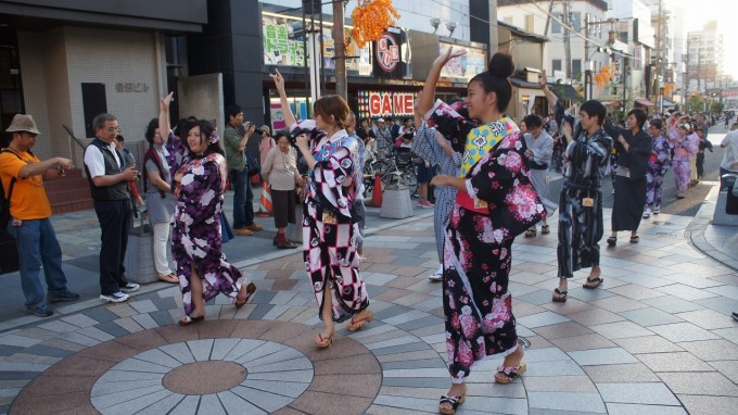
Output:
<svg viewBox="0 0 738 415">
<path fill-rule="evenodd" d="M 39 163 L 37 156 L 29 152 L 0 153 L 0 178 L 5 196 L 10 191 L 10 181 L 15 177 L 13 194 L 10 199 L 10 214 L 22 221 L 44 219 L 51 216 L 51 204 L 43 189 L 43 176 L 35 175 L 21 178 L 21 168 L 26 164 Z"/>
</svg>

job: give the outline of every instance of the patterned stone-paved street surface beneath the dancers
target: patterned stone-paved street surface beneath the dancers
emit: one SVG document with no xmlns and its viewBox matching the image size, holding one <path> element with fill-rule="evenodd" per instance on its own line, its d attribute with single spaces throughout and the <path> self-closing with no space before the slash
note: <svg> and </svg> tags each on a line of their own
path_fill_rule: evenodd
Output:
<svg viewBox="0 0 738 415">
<path fill-rule="evenodd" d="M 430 212 L 428 212 L 430 213 Z M 606 210 L 609 223 L 609 210 Z M 736 272 L 687 241 L 694 218 L 661 214 L 602 249 L 605 286 L 556 287 L 556 229 L 513 246 L 510 290 L 530 341 L 522 381 L 479 363 L 458 414 L 716 414 L 738 406 Z M 551 222 L 556 228 L 556 222 Z M 362 264 L 376 320 L 316 350 L 320 328 L 302 256 L 245 264 L 258 291 L 236 311 L 174 325 L 177 287 L 119 305 L 71 304 L 0 335 L 0 413 L 422 414 L 449 387 L 432 218 L 387 223 Z M 246 239 L 246 238 L 242 238 Z M 160 287 L 164 287 L 158 289 Z"/>
</svg>

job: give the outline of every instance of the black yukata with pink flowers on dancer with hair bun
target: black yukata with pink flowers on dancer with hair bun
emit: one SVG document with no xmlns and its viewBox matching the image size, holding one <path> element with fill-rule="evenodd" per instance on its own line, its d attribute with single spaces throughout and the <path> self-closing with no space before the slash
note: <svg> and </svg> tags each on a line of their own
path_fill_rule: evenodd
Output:
<svg viewBox="0 0 738 415">
<path fill-rule="evenodd" d="M 545 217 L 524 164 L 525 143 L 508 117 L 478 126 L 436 101 L 433 125 L 463 151 L 459 190 L 446 228 L 443 306 L 448 370 L 463 382 L 474 361 L 518 345 L 508 277 L 512 241 Z"/>
</svg>

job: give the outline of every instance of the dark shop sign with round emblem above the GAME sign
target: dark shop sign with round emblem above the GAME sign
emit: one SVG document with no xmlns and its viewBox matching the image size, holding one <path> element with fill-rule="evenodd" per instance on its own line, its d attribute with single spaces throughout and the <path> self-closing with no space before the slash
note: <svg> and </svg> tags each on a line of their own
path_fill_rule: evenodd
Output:
<svg viewBox="0 0 738 415">
<path fill-rule="evenodd" d="M 382 37 L 371 45 L 372 76 L 403 79 L 408 75 L 410 51 L 407 33 L 390 27 Z"/>
</svg>

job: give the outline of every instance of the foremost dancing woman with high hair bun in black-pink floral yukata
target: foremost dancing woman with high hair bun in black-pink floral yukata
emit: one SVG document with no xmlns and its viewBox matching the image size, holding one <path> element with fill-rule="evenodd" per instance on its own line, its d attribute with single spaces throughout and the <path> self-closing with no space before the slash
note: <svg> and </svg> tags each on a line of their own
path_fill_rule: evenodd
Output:
<svg viewBox="0 0 738 415">
<path fill-rule="evenodd" d="M 459 176 L 437 175 L 434 186 L 458 192 L 444 244 L 443 306 L 451 388 L 438 412 L 454 414 L 466 400 L 466 381 L 475 361 L 502 356 L 495 381 L 512 382 L 525 372 L 508 291 L 512 241 L 545 216 L 529 179 L 525 143 L 502 111 L 510 102 L 512 58 L 496 53 L 489 68 L 468 86 L 469 117 L 448 104 L 433 103 L 441 70 L 465 51 L 438 56 L 428 76 L 418 111 L 425 114 L 456 151 L 463 152 Z M 472 120 L 479 120 L 481 123 Z"/>
</svg>

